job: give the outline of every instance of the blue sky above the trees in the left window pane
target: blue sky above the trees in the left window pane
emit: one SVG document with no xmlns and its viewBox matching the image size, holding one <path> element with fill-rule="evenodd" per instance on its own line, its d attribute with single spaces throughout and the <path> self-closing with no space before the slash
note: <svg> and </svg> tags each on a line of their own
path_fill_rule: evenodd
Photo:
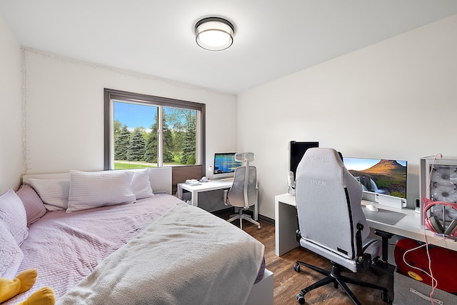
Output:
<svg viewBox="0 0 457 305">
<path fill-rule="evenodd" d="M 114 102 L 114 120 L 120 121 L 122 126 L 127 125 L 130 131 L 141 126 L 147 130 L 151 129 L 156 123 L 156 115 L 156 106 Z"/>
</svg>

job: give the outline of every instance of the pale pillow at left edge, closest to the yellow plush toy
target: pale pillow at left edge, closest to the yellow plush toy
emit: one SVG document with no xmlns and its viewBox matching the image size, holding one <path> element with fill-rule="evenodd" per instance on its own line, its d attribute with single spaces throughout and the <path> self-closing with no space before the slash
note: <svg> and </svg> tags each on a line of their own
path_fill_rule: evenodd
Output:
<svg viewBox="0 0 457 305">
<path fill-rule="evenodd" d="M 0 277 L 13 279 L 24 259 L 24 253 L 0 221 Z"/>
</svg>

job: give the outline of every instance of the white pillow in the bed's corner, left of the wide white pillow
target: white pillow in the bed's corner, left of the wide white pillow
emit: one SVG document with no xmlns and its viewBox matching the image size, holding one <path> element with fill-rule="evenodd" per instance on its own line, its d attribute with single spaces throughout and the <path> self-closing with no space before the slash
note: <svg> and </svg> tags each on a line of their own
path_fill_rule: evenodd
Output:
<svg viewBox="0 0 457 305">
<path fill-rule="evenodd" d="M 64 210 L 69 205 L 69 179 L 29 179 L 29 184 L 48 211 Z"/>
</svg>

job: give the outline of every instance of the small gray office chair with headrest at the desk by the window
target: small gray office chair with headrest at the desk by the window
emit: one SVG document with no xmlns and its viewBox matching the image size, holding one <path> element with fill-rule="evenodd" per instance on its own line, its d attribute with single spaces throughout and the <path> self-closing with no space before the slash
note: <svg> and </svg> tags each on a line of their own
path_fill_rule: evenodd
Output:
<svg viewBox="0 0 457 305">
<path fill-rule="evenodd" d="M 260 224 L 253 220 L 251 215 L 243 214 L 243 210 L 247 210 L 257 204 L 256 166 L 249 166 L 249 162 L 254 160 L 254 154 L 249 152 L 237 153 L 235 154 L 235 160 L 243 162 L 244 165 L 235 169 L 233 184 L 229 191 L 224 191 L 224 204 L 238 208 L 238 214 L 230 215 L 228 221 L 239 219 L 240 228 L 243 229 L 243 219 L 246 219 L 256 224 L 260 229 Z"/>
</svg>

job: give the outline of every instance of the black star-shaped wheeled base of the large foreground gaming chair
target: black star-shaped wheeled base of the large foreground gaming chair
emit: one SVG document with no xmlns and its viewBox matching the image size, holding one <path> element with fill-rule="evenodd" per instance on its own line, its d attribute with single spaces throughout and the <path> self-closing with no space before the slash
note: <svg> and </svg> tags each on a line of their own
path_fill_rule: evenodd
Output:
<svg viewBox="0 0 457 305">
<path fill-rule="evenodd" d="M 300 266 L 306 266 L 309 269 L 317 271 L 318 273 L 326 276 L 325 278 L 321 279 L 320 281 L 317 281 L 316 283 L 306 287 L 305 289 L 302 289 L 300 291 L 300 293 L 297 294 L 297 301 L 299 304 L 305 304 L 305 294 L 308 293 L 309 291 L 316 289 L 318 287 L 324 286 L 326 284 L 331 284 L 331 283 L 333 283 L 335 288 L 338 288 L 338 286 L 341 286 L 341 288 L 351 298 L 351 300 L 354 302 L 354 304 L 361 304 L 361 302 L 358 301 L 358 299 L 353 294 L 351 289 L 349 289 L 347 284 L 355 284 L 358 286 L 379 289 L 379 290 L 381 290 L 381 299 L 386 303 L 391 303 L 391 299 L 388 296 L 388 291 L 386 288 L 375 285 L 375 284 L 367 283 L 365 281 L 351 279 L 351 278 L 348 278 L 347 276 L 342 276 L 341 275 L 342 267 L 340 265 L 334 263 L 333 261 L 331 262 L 331 264 L 332 264 L 331 271 L 328 271 L 328 270 L 321 269 L 319 267 L 316 267 L 316 266 L 313 266 L 310 264 L 306 264 L 303 261 L 296 261 L 295 265 L 293 266 L 293 270 L 300 272 Z"/>
</svg>

